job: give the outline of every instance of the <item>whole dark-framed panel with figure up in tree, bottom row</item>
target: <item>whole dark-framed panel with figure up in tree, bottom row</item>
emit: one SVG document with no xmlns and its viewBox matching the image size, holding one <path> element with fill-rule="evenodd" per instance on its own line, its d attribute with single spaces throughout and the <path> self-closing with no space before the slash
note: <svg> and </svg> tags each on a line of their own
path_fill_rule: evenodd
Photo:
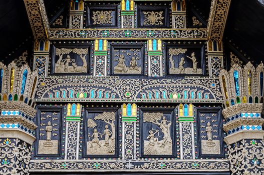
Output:
<svg viewBox="0 0 264 175">
<path fill-rule="evenodd" d="M 141 108 L 140 114 L 140 156 L 175 157 L 174 109 Z"/>
</svg>

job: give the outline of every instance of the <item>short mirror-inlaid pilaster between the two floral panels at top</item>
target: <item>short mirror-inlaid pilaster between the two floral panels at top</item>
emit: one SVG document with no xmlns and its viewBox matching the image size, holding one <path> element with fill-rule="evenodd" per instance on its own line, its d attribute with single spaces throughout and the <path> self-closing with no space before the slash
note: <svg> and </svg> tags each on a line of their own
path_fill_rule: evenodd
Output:
<svg viewBox="0 0 264 175">
<path fill-rule="evenodd" d="M 134 0 L 121 1 L 121 28 L 134 28 L 135 2 Z"/>
</svg>

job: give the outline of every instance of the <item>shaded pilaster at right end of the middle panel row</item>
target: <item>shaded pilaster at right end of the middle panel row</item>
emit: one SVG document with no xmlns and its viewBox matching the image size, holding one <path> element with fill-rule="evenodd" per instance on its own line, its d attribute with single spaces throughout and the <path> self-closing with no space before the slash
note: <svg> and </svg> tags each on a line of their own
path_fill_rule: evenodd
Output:
<svg viewBox="0 0 264 175">
<path fill-rule="evenodd" d="M 208 40 L 208 67 L 209 76 L 217 77 L 223 68 L 223 46 L 221 40 Z"/>
</svg>

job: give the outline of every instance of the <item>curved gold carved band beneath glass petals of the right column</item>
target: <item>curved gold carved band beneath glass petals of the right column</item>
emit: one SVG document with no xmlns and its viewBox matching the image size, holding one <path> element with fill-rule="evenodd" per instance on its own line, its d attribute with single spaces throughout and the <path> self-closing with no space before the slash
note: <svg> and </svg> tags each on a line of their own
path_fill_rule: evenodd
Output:
<svg viewBox="0 0 264 175">
<path fill-rule="evenodd" d="M 222 110 L 224 118 L 235 115 L 240 112 L 257 112 L 260 113 L 263 110 L 262 103 L 243 103 L 235 104 Z"/>
</svg>

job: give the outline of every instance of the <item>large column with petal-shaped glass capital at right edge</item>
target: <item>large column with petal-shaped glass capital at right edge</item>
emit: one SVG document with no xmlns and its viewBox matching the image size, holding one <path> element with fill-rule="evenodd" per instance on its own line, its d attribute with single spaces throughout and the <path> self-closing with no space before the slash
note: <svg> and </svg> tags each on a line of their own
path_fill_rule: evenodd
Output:
<svg viewBox="0 0 264 175">
<path fill-rule="evenodd" d="M 233 64 L 229 71 L 220 71 L 224 141 L 232 174 L 264 173 L 263 74 L 262 62 L 256 68 L 248 62 L 243 67 Z"/>
</svg>

